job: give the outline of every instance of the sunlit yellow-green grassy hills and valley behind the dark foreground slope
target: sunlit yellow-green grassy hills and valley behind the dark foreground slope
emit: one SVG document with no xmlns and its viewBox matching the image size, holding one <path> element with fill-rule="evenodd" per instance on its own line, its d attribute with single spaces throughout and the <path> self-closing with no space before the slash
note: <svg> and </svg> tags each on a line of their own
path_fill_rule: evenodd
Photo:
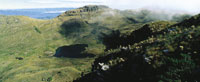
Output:
<svg viewBox="0 0 200 82">
<path fill-rule="evenodd" d="M 140 36 L 135 37 L 134 32 L 140 32 L 142 28 L 150 28 L 147 31 L 156 35 L 174 24 L 174 22 L 163 21 L 151 23 L 169 20 L 163 18 L 165 15 L 160 14 L 160 18 L 157 18 L 152 16 L 153 14 L 155 13 L 147 10 L 120 11 L 106 6 L 91 5 L 67 11 L 51 20 L 1 15 L 0 82 L 73 81 L 80 77 L 82 72 L 91 72 L 91 63 L 95 58 L 105 54 L 105 49 L 113 48 L 117 51 L 120 45 L 129 44 L 133 46 L 132 48 L 137 48 L 135 43 L 149 37 L 149 35 L 141 36 L 141 40 L 132 43 L 128 40 L 138 39 Z M 110 36 L 115 32 L 117 42 L 113 41 L 115 36 L 114 38 Z M 105 39 L 105 36 L 108 38 Z M 59 47 L 74 44 L 88 44 L 81 55 L 92 54 L 96 57 L 54 57 Z M 108 47 L 110 44 L 111 47 Z"/>
</svg>

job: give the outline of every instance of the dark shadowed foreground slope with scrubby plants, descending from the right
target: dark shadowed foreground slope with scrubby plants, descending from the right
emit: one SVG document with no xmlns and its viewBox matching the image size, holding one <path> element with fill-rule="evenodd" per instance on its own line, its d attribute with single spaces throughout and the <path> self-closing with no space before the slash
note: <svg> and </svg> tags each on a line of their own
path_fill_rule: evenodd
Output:
<svg viewBox="0 0 200 82">
<path fill-rule="evenodd" d="M 110 35 L 121 47 L 105 52 L 92 64 L 92 72 L 74 82 L 198 82 L 200 16 L 180 23 L 155 22 L 129 36 Z M 142 35 L 142 36 L 141 36 Z M 123 42 L 126 40 L 130 40 Z M 122 42 L 120 42 L 122 41 Z"/>
</svg>

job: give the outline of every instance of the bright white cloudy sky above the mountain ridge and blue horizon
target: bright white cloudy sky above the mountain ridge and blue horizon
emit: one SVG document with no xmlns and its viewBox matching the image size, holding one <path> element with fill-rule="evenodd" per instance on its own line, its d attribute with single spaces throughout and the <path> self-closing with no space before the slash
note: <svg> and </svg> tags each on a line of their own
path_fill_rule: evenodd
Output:
<svg viewBox="0 0 200 82">
<path fill-rule="evenodd" d="M 0 9 L 77 8 L 84 5 L 107 5 L 115 9 L 165 9 L 200 13 L 200 0 L 0 0 Z"/>
</svg>

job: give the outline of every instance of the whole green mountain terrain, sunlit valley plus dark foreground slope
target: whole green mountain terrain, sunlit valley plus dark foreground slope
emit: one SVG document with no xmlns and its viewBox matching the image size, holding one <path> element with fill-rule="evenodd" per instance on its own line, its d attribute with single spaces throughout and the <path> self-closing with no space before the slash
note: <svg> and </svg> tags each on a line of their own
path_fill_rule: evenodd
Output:
<svg viewBox="0 0 200 82">
<path fill-rule="evenodd" d="M 51 20 L 0 15 L 0 82 L 199 81 L 199 16 L 188 17 L 93 5 Z"/>
</svg>

